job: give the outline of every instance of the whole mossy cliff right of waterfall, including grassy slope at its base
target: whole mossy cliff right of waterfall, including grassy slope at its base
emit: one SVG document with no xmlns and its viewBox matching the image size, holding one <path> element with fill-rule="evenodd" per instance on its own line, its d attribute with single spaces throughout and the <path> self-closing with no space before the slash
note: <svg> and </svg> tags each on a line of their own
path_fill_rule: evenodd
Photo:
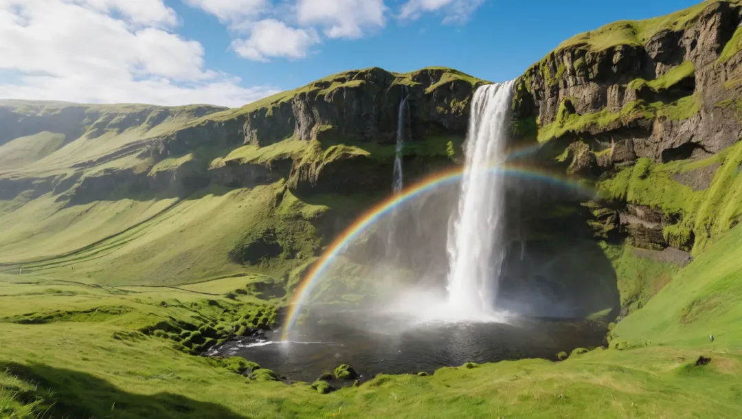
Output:
<svg viewBox="0 0 742 419">
<path fill-rule="evenodd" d="M 601 193 L 588 222 L 614 254 L 626 308 L 739 220 L 741 22 L 739 1 L 615 22 L 516 82 L 516 136 Z"/>
</svg>

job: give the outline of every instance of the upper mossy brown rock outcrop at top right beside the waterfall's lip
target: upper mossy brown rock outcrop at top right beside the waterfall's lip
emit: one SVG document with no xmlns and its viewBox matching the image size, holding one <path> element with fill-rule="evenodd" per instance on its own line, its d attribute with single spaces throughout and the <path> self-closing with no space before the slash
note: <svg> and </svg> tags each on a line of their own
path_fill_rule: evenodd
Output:
<svg viewBox="0 0 742 419">
<path fill-rule="evenodd" d="M 620 161 L 729 147 L 742 133 L 729 104 L 742 96 L 742 54 L 720 54 L 741 10 L 736 1 L 706 1 L 651 24 L 617 22 L 569 39 L 519 79 L 516 117 L 563 128 L 543 130 L 542 140 L 587 136 L 594 151 L 623 143 L 631 153 Z"/>
</svg>

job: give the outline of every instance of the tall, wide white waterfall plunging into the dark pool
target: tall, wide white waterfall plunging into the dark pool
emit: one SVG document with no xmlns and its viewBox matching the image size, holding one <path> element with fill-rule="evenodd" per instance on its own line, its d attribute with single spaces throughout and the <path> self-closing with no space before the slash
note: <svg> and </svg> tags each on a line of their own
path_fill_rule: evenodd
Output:
<svg viewBox="0 0 742 419">
<path fill-rule="evenodd" d="M 489 169 L 502 163 L 513 82 L 485 85 L 472 99 L 459 205 L 451 217 L 447 251 L 448 301 L 465 317 L 493 312 L 502 266 L 505 184 Z"/>
</svg>

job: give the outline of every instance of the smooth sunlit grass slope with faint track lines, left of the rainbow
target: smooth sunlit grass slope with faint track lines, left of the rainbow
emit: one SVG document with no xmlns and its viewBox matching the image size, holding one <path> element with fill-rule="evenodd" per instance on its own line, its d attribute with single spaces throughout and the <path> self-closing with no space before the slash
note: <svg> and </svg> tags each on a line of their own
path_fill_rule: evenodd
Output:
<svg viewBox="0 0 742 419">
<path fill-rule="evenodd" d="M 283 197 L 278 206 L 276 197 Z M 44 204 L 43 201 L 31 202 L 0 222 L 22 219 L 32 214 L 36 209 L 34 205 Z M 31 208 L 26 208 L 28 206 Z M 90 217 L 76 219 L 85 230 L 65 224 L 68 217 L 85 214 L 85 209 L 78 207 L 68 208 L 69 216 L 60 214 L 42 225 L 22 223 L 13 228 L 13 236 L 0 241 L 6 248 L 14 249 L 3 254 L 3 262 L 10 264 L 5 269 L 22 269 L 24 274 L 41 277 L 74 272 L 87 282 L 119 285 L 188 283 L 245 274 L 255 267 L 237 265 L 228 257 L 229 251 L 245 234 L 276 225 L 286 252 L 303 252 L 303 258 L 311 257 L 318 248 L 321 234 L 311 225 L 312 219 L 305 217 L 317 217 L 326 210 L 326 207 L 307 207 L 285 192 L 281 182 L 249 191 L 217 188 L 202 193 L 198 199 L 180 202 L 93 203 L 89 207 L 93 211 L 86 214 Z M 139 208 L 164 209 L 145 218 Z M 235 228 L 234 220 L 240 220 L 240 228 Z M 111 234 L 102 237 L 103 232 L 95 228 L 96 223 L 105 225 L 105 230 Z M 36 228 L 39 234 L 30 234 Z M 16 244 L 19 240 L 22 240 L 21 246 Z M 56 240 L 85 245 L 79 248 L 68 245 L 70 250 L 62 253 L 62 248 L 54 245 Z M 32 255 L 36 257 L 31 259 Z M 284 257 L 286 263 L 300 263 L 290 260 L 288 254 L 281 259 Z M 298 257 L 298 260 L 303 258 Z M 112 271 L 111 265 L 120 268 Z"/>
</svg>

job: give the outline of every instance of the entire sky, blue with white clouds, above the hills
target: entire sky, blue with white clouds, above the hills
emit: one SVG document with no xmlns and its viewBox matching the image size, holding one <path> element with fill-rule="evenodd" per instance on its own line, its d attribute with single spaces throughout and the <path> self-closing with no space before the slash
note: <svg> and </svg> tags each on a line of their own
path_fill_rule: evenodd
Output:
<svg viewBox="0 0 742 419">
<path fill-rule="evenodd" d="M 238 107 L 344 70 L 514 79 L 694 0 L 0 0 L 0 98 Z"/>
</svg>

